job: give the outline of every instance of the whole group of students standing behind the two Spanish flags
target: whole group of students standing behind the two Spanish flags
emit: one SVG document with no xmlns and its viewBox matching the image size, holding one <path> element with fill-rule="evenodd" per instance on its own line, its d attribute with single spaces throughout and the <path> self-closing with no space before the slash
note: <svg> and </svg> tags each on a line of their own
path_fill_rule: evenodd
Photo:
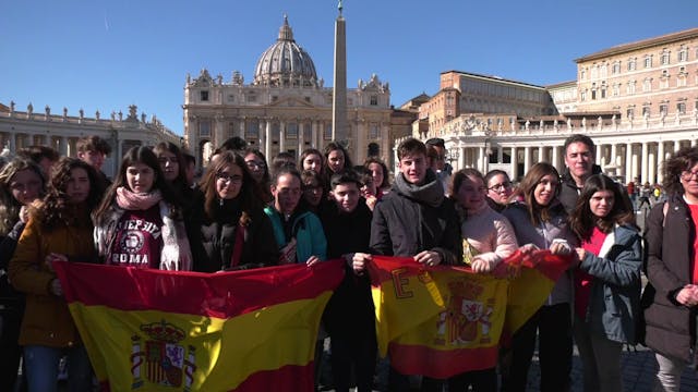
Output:
<svg viewBox="0 0 698 392">
<path fill-rule="evenodd" d="M 404 140 L 392 186 L 380 159 L 353 167 L 338 143 L 324 152 L 303 151 L 298 163 L 281 154 L 269 164 L 242 142 L 216 150 L 197 184 L 184 154 L 168 143 L 128 150 L 109 183 L 99 171 L 108 150 L 95 137 L 79 143 L 79 158 L 60 158 L 50 172 L 28 155 L 0 171 L 0 267 L 11 291 L 3 294 L 11 301 L 3 301 L 0 377 L 8 390 L 21 354 L 29 391 L 56 390 L 63 355 L 71 389 L 91 388 L 89 360 L 52 270 L 56 260 L 217 272 L 312 268 L 342 258 L 347 274 L 323 316 L 333 383 L 337 391 L 352 384 L 370 391 L 376 367 L 366 273 L 372 255 L 413 257 L 426 266 L 465 262 L 489 273 L 517 249 L 550 249 L 574 259 L 574 267 L 503 347 L 503 391 L 526 390 L 537 335 L 542 391 L 569 389 L 573 336 L 586 391 L 622 390 L 623 344 L 641 338 L 657 351 L 658 385 L 677 390 L 672 382 L 693 360 L 695 344 L 698 149 L 682 149 L 667 161 L 664 185 L 675 197 L 647 222 L 650 289 L 640 301 L 635 213 L 624 189 L 593 164 L 587 136 L 566 140 L 562 176 L 540 162 L 516 187 L 502 171 L 449 173 L 441 139 Z M 671 235 L 662 234 L 679 221 Z M 496 391 L 497 380 L 492 368 L 423 378 L 421 388 Z M 390 369 L 388 389 L 409 390 L 409 377 Z"/>
</svg>

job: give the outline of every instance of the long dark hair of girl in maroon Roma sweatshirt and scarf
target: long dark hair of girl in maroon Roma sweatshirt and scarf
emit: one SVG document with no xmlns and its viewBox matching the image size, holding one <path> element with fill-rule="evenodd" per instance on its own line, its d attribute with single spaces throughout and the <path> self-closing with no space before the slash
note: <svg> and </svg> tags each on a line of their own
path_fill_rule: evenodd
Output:
<svg viewBox="0 0 698 392">
<path fill-rule="evenodd" d="M 158 162 L 155 152 L 153 152 L 149 147 L 145 146 L 131 147 L 127 151 L 127 154 L 124 154 L 123 158 L 121 159 L 121 164 L 119 166 L 119 172 L 113 179 L 113 184 L 111 184 L 111 186 L 107 191 L 107 194 L 101 200 L 99 208 L 97 208 L 97 210 L 95 211 L 95 218 L 99 219 L 103 213 L 111 208 L 111 205 L 115 203 L 115 198 L 117 196 L 117 188 L 119 188 L 120 186 L 129 188 L 129 183 L 127 181 L 127 170 L 130 166 L 133 166 L 135 163 L 143 163 L 153 169 L 155 177 L 153 179 L 153 187 L 151 188 L 151 192 L 160 191 L 163 200 L 168 203 L 171 207 L 170 216 L 172 218 L 181 218 L 180 209 L 182 206 L 182 201 L 172 189 L 172 186 L 165 180 L 165 175 L 163 174 L 163 170 L 160 169 L 160 162 Z"/>
</svg>

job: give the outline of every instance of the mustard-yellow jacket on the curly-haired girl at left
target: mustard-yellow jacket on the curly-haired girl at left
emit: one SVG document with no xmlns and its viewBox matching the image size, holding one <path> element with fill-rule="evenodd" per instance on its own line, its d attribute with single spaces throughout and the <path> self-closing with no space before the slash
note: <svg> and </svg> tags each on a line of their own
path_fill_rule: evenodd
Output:
<svg viewBox="0 0 698 392">
<path fill-rule="evenodd" d="M 51 253 L 67 255 L 70 261 L 96 260 L 92 232 L 92 224 L 81 228 L 59 225 L 47 232 L 36 219 L 31 218 L 27 222 L 8 272 L 12 285 L 26 293 L 21 345 L 67 347 L 80 342 L 65 298 L 49 291 L 56 273 L 45 260 Z"/>
</svg>

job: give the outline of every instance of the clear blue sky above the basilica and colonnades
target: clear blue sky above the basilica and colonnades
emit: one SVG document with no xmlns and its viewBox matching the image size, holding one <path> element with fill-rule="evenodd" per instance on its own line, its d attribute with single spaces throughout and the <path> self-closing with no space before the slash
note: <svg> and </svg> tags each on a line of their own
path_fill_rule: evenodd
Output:
<svg viewBox="0 0 698 392">
<path fill-rule="evenodd" d="M 345 0 L 348 86 L 375 73 L 396 107 L 438 89 L 448 70 L 537 85 L 575 78 L 574 60 L 611 46 L 698 27 L 698 1 Z M 5 0 L 0 102 L 103 118 L 156 114 L 183 131 L 183 86 L 206 68 L 252 81 L 288 14 L 296 41 L 333 85 L 333 0 Z"/>
</svg>

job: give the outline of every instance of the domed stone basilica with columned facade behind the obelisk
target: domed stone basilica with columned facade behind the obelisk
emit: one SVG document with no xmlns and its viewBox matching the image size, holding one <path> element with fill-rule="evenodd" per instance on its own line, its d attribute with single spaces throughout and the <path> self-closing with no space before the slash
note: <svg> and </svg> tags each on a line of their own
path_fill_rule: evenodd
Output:
<svg viewBox="0 0 698 392">
<path fill-rule="evenodd" d="M 226 139 L 238 136 L 272 160 L 296 157 L 332 142 L 333 88 L 325 87 L 310 54 L 299 46 L 285 16 L 278 39 L 262 52 L 250 83 L 202 70 L 186 76 L 184 137 L 200 164 Z M 390 158 L 390 90 L 376 75 L 347 89 L 348 150 L 353 162 Z"/>
</svg>

